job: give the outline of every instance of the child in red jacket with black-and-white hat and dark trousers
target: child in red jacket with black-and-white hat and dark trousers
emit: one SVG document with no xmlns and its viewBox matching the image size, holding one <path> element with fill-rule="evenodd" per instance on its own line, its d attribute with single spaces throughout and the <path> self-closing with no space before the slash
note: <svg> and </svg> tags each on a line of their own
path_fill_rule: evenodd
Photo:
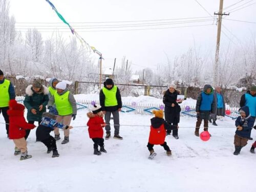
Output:
<svg viewBox="0 0 256 192">
<path fill-rule="evenodd" d="M 104 149 L 104 139 L 103 139 L 103 129 L 106 124 L 103 120 L 102 108 L 100 105 L 95 104 L 93 106 L 92 112 L 87 113 L 89 121 L 87 125 L 89 126 L 89 136 L 93 140 L 94 145 L 94 155 L 101 155 L 101 152 L 106 153 Z M 98 145 L 100 146 L 100 151 L 98 150 Z"/>
</svg>

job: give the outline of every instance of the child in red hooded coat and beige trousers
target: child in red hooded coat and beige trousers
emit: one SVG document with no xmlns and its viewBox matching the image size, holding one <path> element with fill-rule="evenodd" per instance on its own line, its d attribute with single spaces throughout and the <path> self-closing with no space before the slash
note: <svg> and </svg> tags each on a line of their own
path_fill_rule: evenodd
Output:
<svg viewBox="0 0 256 192">
<path fill-rule="evenodd" d="M 13 139 L 15 144 L 14 155 L 19 155 L 20 160 L 29 159 L 32 156 L 28 155 L 27 142 L 25 140 L 26 130 L 34 129 L 35 125 L 27 123 L 24 118 L 25 106 L 23 104 L 17 103 L 16 100 L 12 99 L 9 101 L 9 110 L 7 114 L 9 115 L 9 138 Z"/>
</svg>

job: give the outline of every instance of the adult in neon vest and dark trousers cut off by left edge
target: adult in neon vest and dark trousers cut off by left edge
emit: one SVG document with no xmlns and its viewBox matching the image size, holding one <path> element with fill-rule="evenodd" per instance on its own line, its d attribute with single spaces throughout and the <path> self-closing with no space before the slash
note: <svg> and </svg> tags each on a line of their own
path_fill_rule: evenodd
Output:
<svg viewBox="0 0 256 192">
<path fill-rule="evenodd" d="M 15 99 L 15 91 L 11 81 L 5 79 L 4 73 L 0 70 L 0 114 L 2 113 L 5 119 L 6 134 L 9 138 L 9 100 Z"/>
</svg>

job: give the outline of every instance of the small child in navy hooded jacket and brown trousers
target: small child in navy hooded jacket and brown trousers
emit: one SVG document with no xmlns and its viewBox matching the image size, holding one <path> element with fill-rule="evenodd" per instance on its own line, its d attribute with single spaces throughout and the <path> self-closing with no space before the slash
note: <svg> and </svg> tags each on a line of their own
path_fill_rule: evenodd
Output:
<svg viewBox="0 0 256 192">
<path fill-rule="evenodd" d="M 239 113 L 241 116 L 239 116 L 236 120 L 237 131 L 234 135 L 234 155 L 239 155 L 241 148 L 247 144 L 254 123 L 254 119 L 250 116 L 248 106 L 243 106 L 240 108 Z"/>
</svg>

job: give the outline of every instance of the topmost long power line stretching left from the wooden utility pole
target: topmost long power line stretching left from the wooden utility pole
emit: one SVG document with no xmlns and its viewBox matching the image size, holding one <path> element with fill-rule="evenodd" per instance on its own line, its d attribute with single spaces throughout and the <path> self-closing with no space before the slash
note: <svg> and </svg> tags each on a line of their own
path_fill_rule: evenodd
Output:
<svg viewBox="0 0 256 192">
<path fill-rule="evenodd" d="M 209 16 L 207 16 L 207 17 L 209 17 Z M 115 21 L 115 22 L 70 22 L 70 24 L 157 22 L 157 21 L 161 21 L 161 20 L 184 20 L 184 19 L 196 19 L 196 18 L 207 18 L 207 17 L 204 16 L 204 17 L 185 17 L 185 18 L 151 19 L 151 20 L 125 20 L 125 21 Z M 63 23 L 61 23 L 61 22 L 56 22 L 56 23 L 16 22 L 16 24 L 63 24 Z"/>
</svg>

